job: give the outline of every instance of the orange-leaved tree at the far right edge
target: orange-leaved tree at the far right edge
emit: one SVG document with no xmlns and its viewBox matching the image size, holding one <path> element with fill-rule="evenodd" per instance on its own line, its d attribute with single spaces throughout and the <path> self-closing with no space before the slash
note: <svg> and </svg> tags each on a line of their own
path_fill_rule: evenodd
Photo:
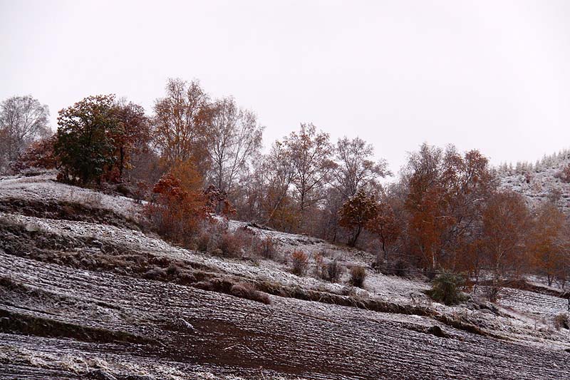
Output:
<svg viewBox="0 0 570 380">
<path fill-rule="evenodd" d="M 529 237 L 529 253 L 532 266 L 546 275 L 549 286 L 566 267 L 569 232 L 566 216 L 556 205 L 546 202 L 538 208 Z"/>
</svg>

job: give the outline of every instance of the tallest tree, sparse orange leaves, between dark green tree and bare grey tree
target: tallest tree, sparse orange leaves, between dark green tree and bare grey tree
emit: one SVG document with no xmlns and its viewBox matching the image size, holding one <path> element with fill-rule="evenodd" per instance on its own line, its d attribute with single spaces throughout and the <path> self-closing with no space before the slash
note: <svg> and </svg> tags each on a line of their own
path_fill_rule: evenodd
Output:
<svg viewBox="0 0 570 380">
<path fill-rule="evenodd" d="M 167 165 L 194 160 L 200 170 L 205 158 L 209 98 L 198 81 L 168 80 L 166 96 L 155 101 L 153 138 Z"/>
</svg>

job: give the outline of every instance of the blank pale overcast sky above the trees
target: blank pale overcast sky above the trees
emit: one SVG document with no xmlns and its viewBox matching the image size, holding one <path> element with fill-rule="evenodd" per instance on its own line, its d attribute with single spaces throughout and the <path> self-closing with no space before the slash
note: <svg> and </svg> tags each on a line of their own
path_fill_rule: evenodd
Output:
<svg viewBox="0 0 570 380">
<path fill-rule="evenodd" d="M 57 111 L 169 77 L 234 96 L 265 145 L 312 122 L 397 172 L 427 141 L 503 161 L 570 147 L 570 1 L 0 0 L 0 100 Z"/>
</svg>

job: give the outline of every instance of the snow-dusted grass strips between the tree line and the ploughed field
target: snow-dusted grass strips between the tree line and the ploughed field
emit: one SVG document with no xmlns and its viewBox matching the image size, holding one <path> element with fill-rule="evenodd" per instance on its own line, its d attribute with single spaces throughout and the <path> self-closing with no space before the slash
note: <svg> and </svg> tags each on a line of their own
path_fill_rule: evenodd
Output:
<svg viewBox="0 0 570 380">
<path fill-rule="evenodd" d="M 53 173 L 38 175 L 36 177 L 9 177 L 0 178 L 0 198 L 21 198 L 28 200 L 53 200 L 56 202 L 91 203 L 93 207 L 112 210 L 119 215 L 130 215 L 140 205 L 125 197 L 104 195 L 93 190 L 77 188 L 70 185 L 56 183 Z M 447 307 L 432 302 L 425 290 L 430 284 L 418 279 L 406 279 L 387 276 L 374 272 L 369 264 L 373 255 L 353 248 L 333 245 L 315 237 L 294 235 L 286 232 L 263 230 L 249 226 L 259 237 L 271 237 L 277 242 L 278 260 L 256 260 L 247 262 L 239 259 L 213 257 L 175 247 L 156 237 L 147 236 L 142 232 L 128 228 L 101 225 L 90 222 L 73 222 L 68 220 L 50 220 L 39 217 L 26 217 L 0 212 L 0 218 L 9 222 L 25 225 L 30 230 L 43 230 L 59 235 L 76 237 L 94 237 L 108 240 L 115 244 L 130 245 L 135 250 L 151 252 L 153 255 L 165 255 L 176 259 L 188 260 L 219 272 L 233 274 L 239 277 L 259 281 L 276 282 L 289 287 L 315 289 L 334 294 L 351 294 L 357 297 L 376 298 L 403 305 L 419 305 L 428 307 L 436 312 L 452 317 L 465 317 L 467 320 L 477 322 L 477 325 L 501 334 L 510 339 L 532 342 L 532 344 L 556 344 L 561 347 L 570 345 L 567 332 L 556 332 L 551 328 L 551 319 L 556 314 L 566 311 L 566 300 L 554 296 L 547 296 L 535 292 L 517 289 L 506 289 L 499 301 L 503 315 L 495 315 L 488 310 L 473 309 L 469 305 Z M 229 221 L 229 230 L 246 227 L 247 223 Z M 314 266 L 309 267 L 309 275 L 298 277 L 289 272 L 288 258 L 294 250 L 302 250 L 309 255 L 314 265 L 314 257 L 321 254 L 326 260 L 337 259 L 341 265 L 363 265 L 367 268 L 368 276 L 364 284 L 365 289 L 347 288 L 348 271 L 345 271 L 339 283 L 329 283 L 311 277 Z M 399 315 L 392 316 L 401 319 Z M 392 318 L 391 317 L 391 318 Z M 417 317 L 405 317 L 413 320 Z M 423 317 L 422 317 L 423 318 Z M 433 323 L 432 319 L 425 319 Z M 423 322 L 428 323 L 428 322 Z"/>
</svg>

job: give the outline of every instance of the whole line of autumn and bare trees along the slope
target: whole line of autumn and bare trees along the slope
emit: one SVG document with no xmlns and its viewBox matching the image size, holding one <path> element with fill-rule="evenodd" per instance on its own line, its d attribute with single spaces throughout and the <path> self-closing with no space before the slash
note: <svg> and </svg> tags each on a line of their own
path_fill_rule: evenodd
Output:
<svg viewBox="0 0 570 380">
<path fill-rule="evenodd" d="M 383 186 L 388 165 L 361 138 L 333 142 L 301 123 L 262 154 L 253 111 L 180 79 L 167 82 L 152 115 L 107 95 L 59 111 L 54 135 L 47 117 L 31 97 L 2 103 L 3 168 L 52 167 L 69 183 L 120 184 L 150 201 L 162 235 L 184 244 L 217 213 L 375 251 L 383 270 L 485 272 L 491 289 L 525 272 L 549 284 L 570 274 L 566 215 L 497 189 L 496 170 L 477 150 L 423 144 Z"/>
</svg>

